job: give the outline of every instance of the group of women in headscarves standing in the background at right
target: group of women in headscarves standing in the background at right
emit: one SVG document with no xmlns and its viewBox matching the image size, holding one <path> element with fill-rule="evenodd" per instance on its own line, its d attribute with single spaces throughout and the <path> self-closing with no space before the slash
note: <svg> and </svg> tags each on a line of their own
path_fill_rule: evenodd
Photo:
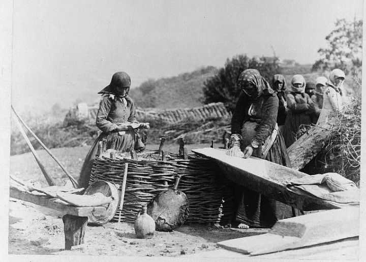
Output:
<svg viewBox="0 0 366 262">
<path fill-rule="evenodd" d="M 329 81 L 320 76 L 315 84 L 306 83 L 302 75 L 294 75 L 290 90 L 286 90 L 286 80 L 282 75 L 272 77 L 273 89 L 280 100 L 277 123 L 284 136 L 286 148 L 301 135 L 301 126 L 309 129 L 312 124 L 327 124 L 337 111 L 342 110 L 341 85 L 344 79 L 345 74 L 340 69 L 334 69 L 330 73 Z M 285 88 L 279 89 L 278 86 Z"/>
</svg>

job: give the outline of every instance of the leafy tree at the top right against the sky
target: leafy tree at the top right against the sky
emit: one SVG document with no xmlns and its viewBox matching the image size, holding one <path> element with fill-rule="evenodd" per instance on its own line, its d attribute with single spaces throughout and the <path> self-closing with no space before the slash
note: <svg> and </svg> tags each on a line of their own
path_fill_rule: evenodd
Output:
<svg viewBox="0 0 366 262">
<path fill-rule="evenodd" d="M 327 47 L 320 48 L 320 59 L 313 71 L 340 68 L 348 74 L 360 71 L 362 65 L 362 20 L 338 19 L 335 28 L 325 37 Z"/>
</svg>

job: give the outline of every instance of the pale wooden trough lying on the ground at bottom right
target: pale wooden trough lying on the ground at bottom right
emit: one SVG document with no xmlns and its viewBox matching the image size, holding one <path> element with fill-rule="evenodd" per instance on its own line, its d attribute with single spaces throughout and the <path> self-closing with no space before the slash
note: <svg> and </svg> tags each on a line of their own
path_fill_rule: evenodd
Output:
<svg viewBox="0 0 366 262">
<path fill-rule="evenodd" d="M 259 255 L 354 238 L 359 235 L 359 208 L 344 208 L 278 221 L 263 235 L 231 239 L 218 246 Z"/>
</svg>

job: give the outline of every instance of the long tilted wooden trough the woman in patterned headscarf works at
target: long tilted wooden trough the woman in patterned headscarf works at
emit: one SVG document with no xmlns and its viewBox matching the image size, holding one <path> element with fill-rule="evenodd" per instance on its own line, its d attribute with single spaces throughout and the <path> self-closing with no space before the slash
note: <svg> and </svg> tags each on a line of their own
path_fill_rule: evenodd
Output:
<svg viewBox="0 0 366 262">
<path fill-rule="evenodd" d="M 312 211 L 343 207 L 338 203 L 320 199 L 293 187 L 291 189 L 287 187 L 292 179 L 309 176 L 306 173 L 259 158 L 231 157 L 226 155 L 224 150 L 203 148 L 194 149 L 192 152 L 215 160 L 223 174 L 231 181 L 294 208 Z"/>
</svg>

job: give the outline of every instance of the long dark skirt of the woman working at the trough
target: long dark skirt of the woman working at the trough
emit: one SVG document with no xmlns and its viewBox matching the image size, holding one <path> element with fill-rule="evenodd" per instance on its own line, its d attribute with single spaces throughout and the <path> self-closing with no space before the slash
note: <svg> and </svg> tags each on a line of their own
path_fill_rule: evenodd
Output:
<svg viewBox="0 0 366 262">
<path fill-rule="evenodd" d="M 273 143 L 265 159 L 273 163 L 291 167 L 281 132 L 278 133 L 276 141 Z M 270 228 L 280 219 L 299 214 L 299 211 L 282 202 L 270 199 L 240 185 L 235 185 L 234 199 L 236 207 L 234 222 L 245 223 L 251 227 Z"/>
</svg>

